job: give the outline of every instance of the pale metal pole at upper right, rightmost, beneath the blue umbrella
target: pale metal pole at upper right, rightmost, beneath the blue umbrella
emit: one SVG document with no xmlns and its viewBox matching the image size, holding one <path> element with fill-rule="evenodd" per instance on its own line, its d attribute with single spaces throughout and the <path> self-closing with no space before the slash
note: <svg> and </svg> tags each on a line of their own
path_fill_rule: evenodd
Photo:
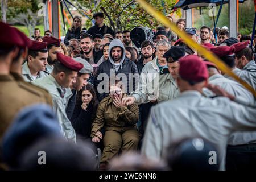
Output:
<svg viewBox="0 0 256 182">
<path fill-rule="evenodd" d="M 229 37 L 237 38 L 237 1 L 229 0 Z"/>
</svg>

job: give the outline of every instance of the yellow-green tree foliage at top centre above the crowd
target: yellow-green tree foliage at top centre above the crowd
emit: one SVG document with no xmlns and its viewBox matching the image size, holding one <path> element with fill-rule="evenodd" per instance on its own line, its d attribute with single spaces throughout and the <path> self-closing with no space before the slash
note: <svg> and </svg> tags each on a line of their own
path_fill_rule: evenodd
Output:
<svg viewBox="0 0 256 182">
<path fill-rule="evenodd" d="M 170 14 L 171 8 L 175 5 L 176 0 L 147 0 L 155 9 L 163 13 Z M 102 0 L 98 5 L 91 0 L 79 0 L 79 3 L 86 9 L 97 12 L 105 11 L 105 23 L 114 30 L 131 30 L 137 26 L 147 26 L 155 28 L 159 25 L 158 20 L 147 13 L 138 2 L 134 0 Z M 180 10 L 178 10 L 180 14 Z M 92 24 L 87 21 L 85 26 L 89 28 Z"/>
</svg>

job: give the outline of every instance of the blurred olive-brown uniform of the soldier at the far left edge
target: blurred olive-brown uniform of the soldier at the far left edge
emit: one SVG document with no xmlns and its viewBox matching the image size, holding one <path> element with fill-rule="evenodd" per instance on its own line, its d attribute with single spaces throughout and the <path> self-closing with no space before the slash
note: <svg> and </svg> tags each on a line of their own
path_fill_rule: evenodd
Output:
<svg viewBox="0 0 256 182">
<path fill-rule="evenodd" d="M 32 104 L 49 102 L 38 90 L 22 81 L 15 81 L 11 75 L 0 75 L 0 100 L 0 141 L 21 109 Z"/>
</svg>

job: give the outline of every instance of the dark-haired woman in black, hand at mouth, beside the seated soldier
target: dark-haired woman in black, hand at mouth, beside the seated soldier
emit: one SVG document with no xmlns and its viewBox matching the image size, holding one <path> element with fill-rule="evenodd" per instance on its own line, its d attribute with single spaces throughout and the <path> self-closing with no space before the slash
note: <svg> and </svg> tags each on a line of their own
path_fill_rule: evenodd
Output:
<svg viewBox="0 0 256 182">
<path fill-rule="evenodd" d="M 96 115 L 98 101 L 92 85 L 88 84 L 82 88 L 76 97 L 76 106 L 71 117 L 71 123 L 76 131 L 77 138 L 91 141 L 90 133 L 92 122 Z M 101 131 L 96 135 L 102 138 Z"/>
</svg>

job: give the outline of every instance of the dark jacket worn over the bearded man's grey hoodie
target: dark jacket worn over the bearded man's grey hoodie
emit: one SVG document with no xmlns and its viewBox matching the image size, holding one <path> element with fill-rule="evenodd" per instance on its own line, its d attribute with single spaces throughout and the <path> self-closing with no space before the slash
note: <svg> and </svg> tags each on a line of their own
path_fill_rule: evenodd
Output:
<svg viewBox="0 0 256 182">
<path fill-rule="evenodd" d="M 101 79 L 101 80 L 98 80 L 98 75 L 100 75 L 101 73 L 105 73 L 106 75 L 108 75 L 108 78 L 110 78 L 110 73 L 114 73 L 115 75 L 118 75 L 119 73 L 123 73 L 126 75 L 126 79 L 127 79 L 127 82 L 126 82 L 126 93 L 130 93 L 129 92 L 129 82 L 131 81 L 131 76 L 132 75 L 129 75 L 129 73 L 132 73 L 132 74 L 135 74 L 137 73 L 136 75 L 134 75 L 135 77 L 135 80 L 139 80 L 139 75 L 138 75 L 138 69 L 137 69 L 137 66 L 136 64 L 127 59 L 127 57 L 125 57 L 125 60 L 123 61 L 122 63 L 122 67 L 119 67 L 118 71 L 115 71 L 114 67 L 113 67 L 113 64 L 110 63 L 109 59 L 102 62 L 100 64 L 100 66 L 98 67 L 98 71 L 97 71 L 97 74 L 94 78 L 94 87 L 95 89 L 97 90 L 97 97 L 98 97 L 98 100 L 101 101 L 103 98 L 107 97 L 109 95 L 109 92 L 104 92 L 104 93 L 98 93 L 98 89 L 97 89 L 97 86 L 98 84 L 100 84 L 100 82 L 104 79 Z M 122 77 L 119 77 L 121 80 L 122 80 Z M 100 78 L 99 78 L 100 79 Z M 109 80 L 104 80 L 108 83 Z M 125 83 L 123 83 L 125 84 Z M 108 85 L 108 84 L 106 84 Z M 104 88 L 104 87 L 103 87 Z M 102 88 L 102 89 L 103 89 Z M 134 91 L 135 90 L 135 81 L 133 81 L 133 88 L 132 90 Z"/>
</svg>

